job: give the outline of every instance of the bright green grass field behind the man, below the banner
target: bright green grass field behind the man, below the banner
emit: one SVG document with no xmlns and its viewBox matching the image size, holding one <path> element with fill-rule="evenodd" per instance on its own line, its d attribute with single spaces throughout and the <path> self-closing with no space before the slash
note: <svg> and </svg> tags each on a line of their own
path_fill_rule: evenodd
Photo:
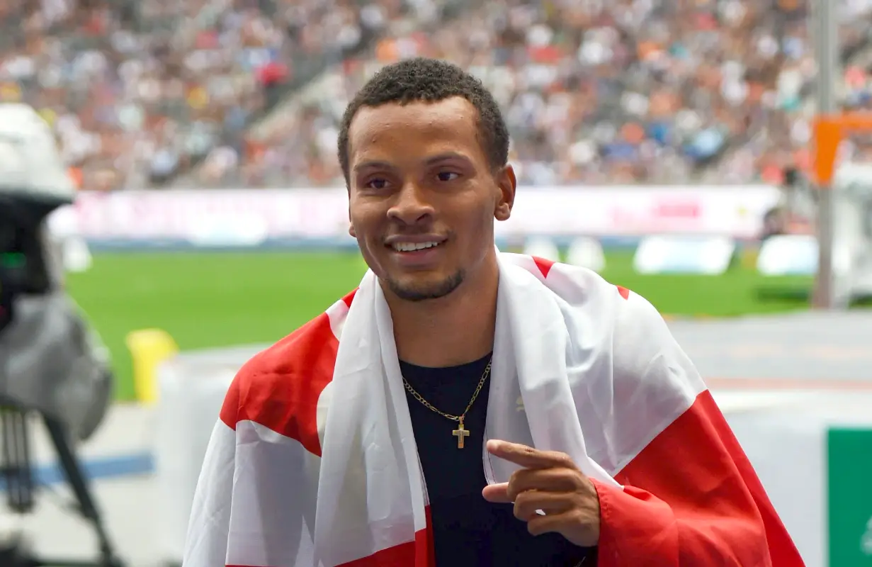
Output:
<svg viewBox="0 0 872 567">
<path fill-rule="evenodd" d="M 803 277 L 764 278 L 753 259 L 724 276 L 640 276 L 630 252 L 607 255 L 603 277 L 675 316 L 736 316 L 807 305 Z M 119 376 L 118 397 L 133 399 L 127 332 L 158 327 L 182 350 L 269 343 L 353 289 L 364 274 L 356 253 L 98 254 L 69 287 L 96 326 Z"/>
</svg>

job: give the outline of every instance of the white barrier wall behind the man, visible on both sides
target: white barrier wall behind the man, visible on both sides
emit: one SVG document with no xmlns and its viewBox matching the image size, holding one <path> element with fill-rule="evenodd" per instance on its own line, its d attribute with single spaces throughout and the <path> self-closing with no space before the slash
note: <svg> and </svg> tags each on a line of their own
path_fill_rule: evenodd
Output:
<svg viewBox="0 0 872 567">
<path fill-rule="evenodd" d="M 167 562 L 181 562 L 194 488 L 224 393 L 236 369 L 261 348 L 186 352 L 160 366 L 153 450 L 163 523 L 156 543 Z M 728 391 L 714 396 L 807 567 L 827 567 L 828 430 L 866 427 L 872 437 L 872 394 Z M 862 462 L 862 455 L 855 456 Z M 848 534 L 846 541 L 860 550 L 864 528 L 855 528 L 856 535 Z M 872 564 L 872 551 L 868 559 Z"/>
</svg>

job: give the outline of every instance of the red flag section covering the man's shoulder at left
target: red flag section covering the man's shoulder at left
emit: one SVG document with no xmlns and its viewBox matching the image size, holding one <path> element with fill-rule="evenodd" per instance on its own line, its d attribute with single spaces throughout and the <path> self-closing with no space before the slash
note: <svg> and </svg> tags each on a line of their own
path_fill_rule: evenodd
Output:
<svg viewBox="0 0 872 567">
<path fill-rule="evenodd" d="M 339 336 L 354 291 L 249 359 L 230 386 L 221 420 L 253 421 L 319 452 L 317 405 L 333 379 Z"/>
</svg>

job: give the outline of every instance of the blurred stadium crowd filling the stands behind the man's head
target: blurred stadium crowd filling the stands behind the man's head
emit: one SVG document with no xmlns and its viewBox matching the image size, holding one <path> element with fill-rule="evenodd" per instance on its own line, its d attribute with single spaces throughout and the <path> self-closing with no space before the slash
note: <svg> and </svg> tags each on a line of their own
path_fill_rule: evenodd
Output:
<svg viewBox="0 0 872 567">
<path fill-rule="evenodd" d="M 838 1 L 841 97 L 861 107 L 872 0 Z M 337 185 L 348 99 L 424 55 L 493 90 L 523 183 L 779 182 L 808 165 L 807 17 L 807 0 L 3 0 L 0 100 L 37 107 L 83 188 Z"/>
</svg>

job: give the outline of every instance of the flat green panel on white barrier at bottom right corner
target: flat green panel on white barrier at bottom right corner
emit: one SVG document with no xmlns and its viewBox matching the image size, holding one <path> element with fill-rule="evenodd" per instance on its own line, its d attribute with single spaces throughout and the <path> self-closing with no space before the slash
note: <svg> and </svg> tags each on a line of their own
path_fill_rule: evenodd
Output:
<svg viewBox="0 0 872 567">
<path fill-rule="evenodd" d="M 829 567 L 872 567 L 872 429 L 831 428 Z"/>
</svg>

